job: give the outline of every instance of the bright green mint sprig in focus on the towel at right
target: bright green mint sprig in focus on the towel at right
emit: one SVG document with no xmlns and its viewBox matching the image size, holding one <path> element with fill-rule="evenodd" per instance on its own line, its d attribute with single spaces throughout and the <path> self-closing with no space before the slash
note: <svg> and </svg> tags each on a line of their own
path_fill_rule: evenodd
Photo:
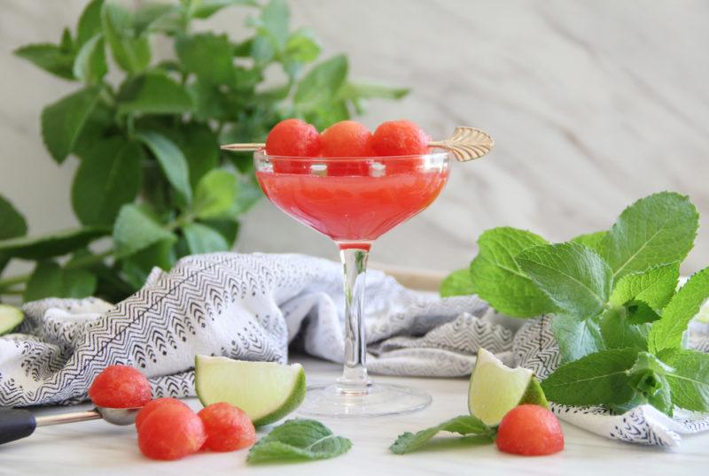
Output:
<svg viewBox="0 0 709 476">
<path fill-rule="evenodd" d="M 518 318 L 553 315 L 562 365 L 541 382 L 552 402 L 709 411 L 709 355 L 685 339 L 709 298 L 709 268 L 677 289 L 697 228 L 690 199 L 670 192 L 633 203 L 609 231 L 570 242 L 495 228 L 441 295 L 475 293 Z"/>
</svg>

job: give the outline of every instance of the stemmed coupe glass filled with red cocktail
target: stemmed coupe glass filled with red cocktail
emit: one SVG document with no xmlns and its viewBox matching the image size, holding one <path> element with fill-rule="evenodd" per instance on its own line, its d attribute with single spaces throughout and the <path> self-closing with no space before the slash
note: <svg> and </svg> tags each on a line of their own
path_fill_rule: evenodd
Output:
<svg viewBox="0 0 709 476">
<path fill-rule="evenodd" d="M 254 155 L 269 200 L 339 247 L 345 286 L 345 368 L 330 385 L 308 387 L 300 413 L 364 418 L 422 410 L 431 395 L 373 384 L 365 363 L 364 277 L 372 242 L 430 205 L 448 180 L 448 153 L 406 157 Z"/>
</svg>

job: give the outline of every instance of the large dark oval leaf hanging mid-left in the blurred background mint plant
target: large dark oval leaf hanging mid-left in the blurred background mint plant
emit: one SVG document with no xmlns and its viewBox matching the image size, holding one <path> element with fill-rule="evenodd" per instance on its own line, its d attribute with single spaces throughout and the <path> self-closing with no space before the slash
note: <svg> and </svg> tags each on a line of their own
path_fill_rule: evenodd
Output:
<svg viewBox="0 0 709 476">
<path fill-rule="evenodd" d="M 140 189 L 143 158 L 143 148 L 122 137 L 99 142 L 83 155 L 72 183 L 74 213 L 83 224 L 113 225 Z"/>
</svg>

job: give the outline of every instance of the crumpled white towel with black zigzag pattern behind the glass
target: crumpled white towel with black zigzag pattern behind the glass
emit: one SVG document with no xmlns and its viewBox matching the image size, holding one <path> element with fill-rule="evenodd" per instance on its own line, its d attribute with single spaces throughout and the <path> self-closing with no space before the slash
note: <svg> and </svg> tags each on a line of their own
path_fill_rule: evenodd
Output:
<svg viewBox="0 0 709 476">
<path fill-rule="evenodd" d="M 440 299 L 367 274 L 370 372 L 451 377 L 471 372 L 479 347 L 543 378 L 558 365 L 549 317 L 511 319 L 476 296 Z M 115 306 L 96 298 L 27 303 L 19 334 L 0 338 L 0 405 L 86 399 L 107 365 L 133 365 L 154 396 L 194 393 L 195 354 L 285 362 L 289 345 L 332 361 L 343 356 L 340 265 L 300 255 L 214 253 L 154 270 L 144 288 Z M 698 326 L 697 349 L 709 348 Z M 704 347 L 703 347 L 704 346 Z M 560 418 L 596 434 L 676 446 L 709 418 L 675 418 L 641 406 L 624 415 L 554 406 Z"/>
</svg>

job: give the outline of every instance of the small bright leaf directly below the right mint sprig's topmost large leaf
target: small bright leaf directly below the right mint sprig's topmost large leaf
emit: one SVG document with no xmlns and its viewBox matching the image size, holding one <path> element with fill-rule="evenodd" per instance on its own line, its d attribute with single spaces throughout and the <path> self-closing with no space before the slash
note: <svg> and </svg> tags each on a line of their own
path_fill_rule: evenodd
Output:
<svg viewBox="0 0 709 476">
<path fill-rule="evenodd" d="M 653 309 L 662 309 L 674 295 L 679 277 L 679 263 L 653 266 L 642 273 L 627 273 L 615 284 L 610 303 L 619 306 L 639 300 Z"/>
</svg>

